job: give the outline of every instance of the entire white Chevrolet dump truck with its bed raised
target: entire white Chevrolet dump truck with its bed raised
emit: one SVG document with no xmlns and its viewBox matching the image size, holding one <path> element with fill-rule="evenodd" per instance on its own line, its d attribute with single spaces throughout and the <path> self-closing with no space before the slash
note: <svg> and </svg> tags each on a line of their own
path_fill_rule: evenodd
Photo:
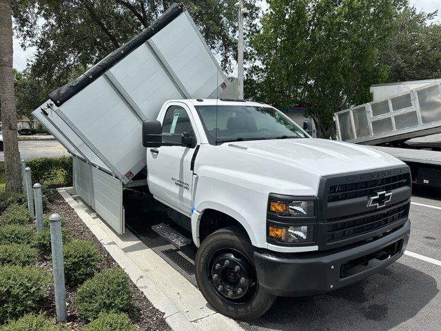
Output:
<svg viewBox="0 0 441 331">
<path fill-rule="evenodd" d="M 192 238 L 154 229 L 176 247 L 196 245 L 198 287 L 234 319 L 256 319 L 276 296 L 336 290 L 402 256 L 407 165 L 312 139 L 269 105 L 223 99 L 228 86 L 175 4 L 33 114 L 72 154 L 76 194 L 116 232 L 124 190 L 181 215 Z"/>
</svg>

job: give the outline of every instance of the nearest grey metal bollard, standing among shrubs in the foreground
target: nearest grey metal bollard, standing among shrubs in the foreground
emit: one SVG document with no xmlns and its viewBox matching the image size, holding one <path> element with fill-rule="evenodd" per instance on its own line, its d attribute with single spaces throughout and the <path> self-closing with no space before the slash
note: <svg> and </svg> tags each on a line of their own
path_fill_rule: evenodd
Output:
<svg viewBox="0 0 441 331">
<path fill-rule="evenodd" d="M 52 265 L 54 268 L 55 311 L 57 321 L 66 321 L 66 291 L 64 283 L 63 242 L 61 241 L 61 217 L 52 214 L 49 217 L 50 243 L 52 246 Z"/>
</svg>

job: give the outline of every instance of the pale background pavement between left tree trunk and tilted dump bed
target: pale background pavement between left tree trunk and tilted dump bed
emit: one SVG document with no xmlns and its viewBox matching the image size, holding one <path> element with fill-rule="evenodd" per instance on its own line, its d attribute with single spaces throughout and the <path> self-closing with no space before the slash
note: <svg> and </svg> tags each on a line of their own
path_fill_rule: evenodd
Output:
<svg viewBox="0 0 441 331">
<path fill-rule="evenodd" d="M 35 159 L 37 157 L 61 157 L 70 155 L 56 140 L 23 140 L 19 141 L 21 159 Z M 4 161 L 4 154 L 0 152 L 0 161 Z"/>
</svg>

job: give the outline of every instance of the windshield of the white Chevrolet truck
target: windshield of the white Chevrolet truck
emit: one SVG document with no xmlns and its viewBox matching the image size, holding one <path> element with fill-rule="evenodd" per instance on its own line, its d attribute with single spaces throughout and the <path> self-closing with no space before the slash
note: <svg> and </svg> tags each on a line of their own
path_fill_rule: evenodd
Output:
<svg viewBox="0 0 441 331">
<path fill-rule="evenodd" d="M 209 143 L 306 138 L 307 135 L 279 110 L 255 106 L 195 106 Z"/>
</svg>

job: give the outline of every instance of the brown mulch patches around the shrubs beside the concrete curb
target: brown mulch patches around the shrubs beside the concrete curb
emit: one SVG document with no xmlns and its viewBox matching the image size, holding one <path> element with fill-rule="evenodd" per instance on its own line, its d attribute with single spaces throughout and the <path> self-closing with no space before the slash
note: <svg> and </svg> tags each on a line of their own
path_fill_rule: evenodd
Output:
<svg viewBox="0 0 441 331">
<path fill-rule="evenodd" d="M 65 226 L 70 231 L 72 239 L 87 239 L 96 243 L 102 258 L 101 263 L 99 263 L 99 270 L 112 268 L 117 264 L 89 228 L 83 223 L 83 221 L 81 221 L 76 212 L 74 212 L 74 210 L 70 208 L 70 205 L 64 201 L 63 197 L 61 197 L 57 190 L 53 190 L 53 201 L 49 203 L 48 207 L 50 213 L 57 212 L 63 217 L 63 219 L 65 219 Z M 152 303 L 147 300 L 143 292 L 141 292 L 132 281 L 130 281 L 130 283 L 134 292 L 134 307 L 128 312 L 128 314 L 130 319 L 136 323 L 136 330 L 171 330 L 163 319 L 163 313 L 154 308 Z M 74 304 L 75 292 L 76 288 L 70 288 L 66 285 L 68 325 L 72 330 L 79 330 L 84 323 L 79 320 L 79 317 L 76 314 Z M 55 316 L 53 288 L 50 290 L 50 297 L 45 303 L 43 303 L 41 308 L 50 315 Z"/>
</svg>

